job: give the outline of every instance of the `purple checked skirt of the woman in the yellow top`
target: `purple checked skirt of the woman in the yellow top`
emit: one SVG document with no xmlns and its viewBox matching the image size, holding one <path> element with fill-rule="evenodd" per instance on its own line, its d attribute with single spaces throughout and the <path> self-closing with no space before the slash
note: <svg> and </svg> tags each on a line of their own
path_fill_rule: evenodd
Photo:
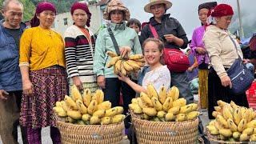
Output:
<svg viewBox="0 0 256 144">
<path fill-rule="evenodd" d="M 55 126 L 55 102 L 62 101 L 67 94 L 66 69 L 50 66 L 42 70 L 30 71 L 33 84 L 32 96 L 22 95 L 20 123 L 33 128 Z"/>
</svg>

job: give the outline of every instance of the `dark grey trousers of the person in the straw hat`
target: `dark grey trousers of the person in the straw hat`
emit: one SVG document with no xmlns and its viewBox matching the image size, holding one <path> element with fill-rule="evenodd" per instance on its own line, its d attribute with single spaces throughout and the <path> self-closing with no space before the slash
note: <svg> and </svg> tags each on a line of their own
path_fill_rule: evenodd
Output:
<svg viewBox="0 0 256 144">
<path fill-rule="evenodd" d="M 170 72 L 171 86 L 177 86 L 179 90 L 179 98 L 186 98 L 186 103 L 193 103 L 194 96 L 191 93 L 189 81 L 186 72 L 174 73 Z"/>
</svg>

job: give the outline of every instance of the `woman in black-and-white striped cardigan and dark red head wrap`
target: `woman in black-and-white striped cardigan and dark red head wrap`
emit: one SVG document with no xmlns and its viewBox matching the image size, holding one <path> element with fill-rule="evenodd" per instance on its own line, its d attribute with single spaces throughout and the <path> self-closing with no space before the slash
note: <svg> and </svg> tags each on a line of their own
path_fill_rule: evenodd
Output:
<svg viewBox="0 0 256 144">
<path fill-rule="evenodd" d="M 88 88 L 94 93 L 98 86 L 93 72 L 94 34 L 88 29 L 91 17 L 90 10 L 86 3 L 74 2 L 70 12 L 74 24 L 68 27 L 64 33 L 70 90 L 71 86 L 76 86 L 78 90 L 82 91 Z"/>
</svg>

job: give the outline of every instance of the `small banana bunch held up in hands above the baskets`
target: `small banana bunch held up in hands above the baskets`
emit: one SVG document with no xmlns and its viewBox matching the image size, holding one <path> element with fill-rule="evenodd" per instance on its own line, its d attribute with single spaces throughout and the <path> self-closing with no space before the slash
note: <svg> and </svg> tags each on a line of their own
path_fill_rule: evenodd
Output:
<svg viewBox="0 0 256 144">
<path fill-rule="evenodd" d="M 111 57 L 106 67 L 110 68 L 114 66 L 114 74 L 126 76 L 130 74 L 130 72 L 140 70 L 140 68 L 144 66 L 145 61 L 142 54 L 129 55 L 128 58 L 121 58 L 112 51 L 107 51 L 106 54 Z"/>
</svg>

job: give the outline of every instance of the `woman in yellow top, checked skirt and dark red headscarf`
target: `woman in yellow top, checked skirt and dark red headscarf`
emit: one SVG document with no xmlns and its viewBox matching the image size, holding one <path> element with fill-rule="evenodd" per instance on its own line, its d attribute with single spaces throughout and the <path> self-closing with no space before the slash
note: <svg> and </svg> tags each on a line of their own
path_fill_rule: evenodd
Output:
<svg viewBox="0 0 256 144">
<path fill-rule="evenodd" d="M 19 66 L 22 73 L 22 109 L 20 122 L 27 126 L 29 143 L 41 143 L 42 127 L 50 126 L 53 143 L 61 143 L 55 126 L 54 104 L 67 94 L 66 65 L 62 36 L 50 29 L 55 6 L 41 2 L 31 27 L 20 40 Z"/>
</svg>

